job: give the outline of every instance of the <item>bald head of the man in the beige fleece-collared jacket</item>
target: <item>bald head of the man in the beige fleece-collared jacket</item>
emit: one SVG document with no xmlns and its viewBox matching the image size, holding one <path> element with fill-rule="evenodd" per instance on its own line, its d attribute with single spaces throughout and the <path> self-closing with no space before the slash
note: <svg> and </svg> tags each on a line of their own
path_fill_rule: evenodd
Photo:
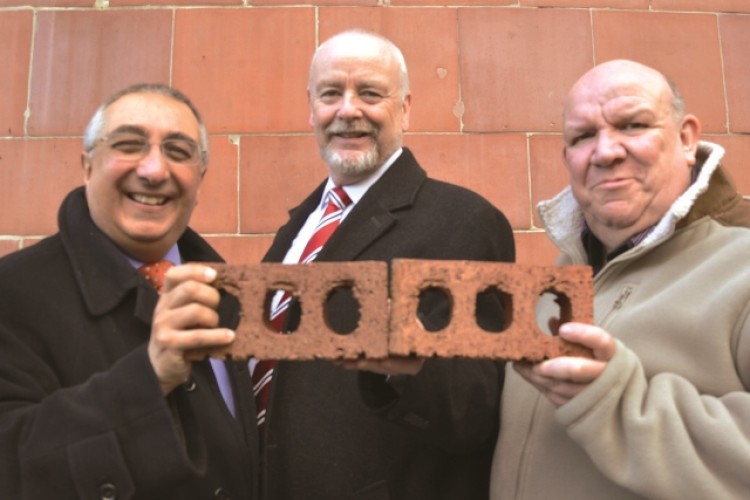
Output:
<svg viewBox="0 0 750 500">
<path fill-rule="evenodd" d="M 573 87 L 565 108 L 565 162 L 590 228 L 614 247 L 661 219 L 690 183 L 699 124 L 675 117 L 660 74 L 605 63 Z"/>
</svg>

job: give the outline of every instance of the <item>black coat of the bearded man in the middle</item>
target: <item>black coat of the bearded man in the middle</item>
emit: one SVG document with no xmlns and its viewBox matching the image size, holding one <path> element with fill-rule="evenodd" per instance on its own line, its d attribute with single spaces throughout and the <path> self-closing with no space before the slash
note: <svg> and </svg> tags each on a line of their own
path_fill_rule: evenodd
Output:
<svg viewBox="0 0 750 500">
<path fill-rule="evenodd" d="M 265 261 L 283 259 L 324 186 L 291 211 Z M 317 261 L 394 258 L 513 261 L 512 229 L 477 194 L 429 179 L 404 149 Z M 345 302 L 331 307 L 346 323 Z M 445 310 L 433 304 L 425 314 Z M 279 363 L 266 421 L 264 498 L 486 499 L 502 376 L 490 361 L 431 359 L 417 376 L 389 384 L 330 362 Z"/>
</svg>

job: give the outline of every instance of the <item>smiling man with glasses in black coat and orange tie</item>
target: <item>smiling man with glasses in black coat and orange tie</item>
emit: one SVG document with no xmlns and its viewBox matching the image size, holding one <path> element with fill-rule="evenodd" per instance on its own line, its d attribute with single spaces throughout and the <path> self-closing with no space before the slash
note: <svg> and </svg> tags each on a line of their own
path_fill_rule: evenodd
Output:
<svg viewBox="0 0 750 500">
<path fill-rule="evenodd" d="M 247 369 L 190 355 L 230 343 L 239 311 L 180 265 L 221 261 L 187 227 L 207 162 L 187 97 L 122 90 L 86 128 L 59 232 L 0 259 L 0 498 L 254 496 Z"/>
</svg>

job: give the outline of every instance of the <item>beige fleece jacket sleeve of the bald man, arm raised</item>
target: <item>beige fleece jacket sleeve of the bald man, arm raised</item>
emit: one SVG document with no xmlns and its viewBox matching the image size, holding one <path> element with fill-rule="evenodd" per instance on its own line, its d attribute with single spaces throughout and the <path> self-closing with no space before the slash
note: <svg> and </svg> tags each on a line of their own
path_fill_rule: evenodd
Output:
<svg viewBox="0 0 750 500">
<path fill-rule="evenodd" d="M 750 329 L 737 350 L 750 373 Z M 750 491 L 750 394 L 700 394 L 685 378 L 650 379 L 618 341 L 602 376 L 557 410 L 558 421 L 612 481 L 648 498 L 745 498 Z"/>
</svg>

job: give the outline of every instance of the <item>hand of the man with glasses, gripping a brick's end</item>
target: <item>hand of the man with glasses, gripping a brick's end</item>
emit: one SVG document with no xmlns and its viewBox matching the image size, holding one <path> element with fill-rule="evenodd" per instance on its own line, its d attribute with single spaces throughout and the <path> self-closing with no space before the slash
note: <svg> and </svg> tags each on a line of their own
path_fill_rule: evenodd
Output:
<svg viewBox="0 0 750 500">
<path fill-rule="evenodd" d="M 170 269 L 154 311 L 148 355 L 166 395 L 190 376 L 195 349 L 225 346 L 235 337 L 218 328 L 219 291 L 211 286 L 216 271 L 200 264 Z"/>
</svg>

